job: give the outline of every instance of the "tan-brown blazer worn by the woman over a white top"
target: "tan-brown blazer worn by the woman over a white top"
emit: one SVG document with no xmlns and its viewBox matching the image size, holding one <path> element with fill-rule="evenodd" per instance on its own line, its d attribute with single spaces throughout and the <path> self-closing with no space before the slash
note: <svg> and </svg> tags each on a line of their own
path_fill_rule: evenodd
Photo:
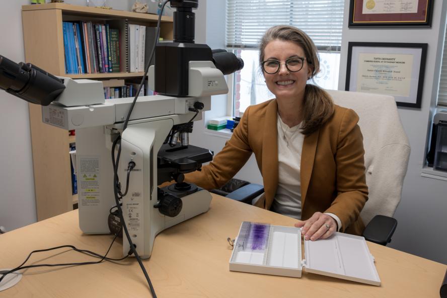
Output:
<svg viewBox="0 0 447 298">
<path fill-rule="evenodd" d="M 269 209 L 278 185 L 276 100 L 250 106 L 222 151 L 201 172 L 185 180 L 205 189 L 219 188 L 244 166 L 254 153 L 264 183 L 264 196 L 257 206 Z M 363 161 L 363 137 L 358 116 L 335 106 L 330 120 L 305 136 L 301 157 L 302 219 L 316 211 L 336 214 L 344 232 L 361 235 L 359 217 L 368 199 Z"/>
</svg>

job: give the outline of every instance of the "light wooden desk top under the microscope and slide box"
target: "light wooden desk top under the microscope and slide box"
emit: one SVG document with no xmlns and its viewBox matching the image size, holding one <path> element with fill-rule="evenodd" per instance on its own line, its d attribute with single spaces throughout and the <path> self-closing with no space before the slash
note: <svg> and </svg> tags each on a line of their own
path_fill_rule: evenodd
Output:
<svg viewBox="0 0 447 298">
<path fill-rule="evenodd" d="M 291 226 L 295 219 L 213 195 L 208 212 L 180 223 L 155 240 L 144 261 L 158 297 L 439 297 L 446 265 L 368 243 L 382 280 L 372 286 L 303 272 L 302 278 L 229 271 L 231 247 L 243 220 Z M 0 268 L 16 267 L 36 249 L 71 244 L 104 254 L 110 235 L 83 235 L 78 212 L 70 211 L 0 236 Z M 416 241 L 416 239 L 415 239 Z M 114 244 L 110 257 L 121 256 Z M 30 263 L 92 260 L 60 250 L 44 252 Z M 134 258 L 119 264 L 69 268 L 31 268 L 0 297 L 150 297 Z"/>
</svg>

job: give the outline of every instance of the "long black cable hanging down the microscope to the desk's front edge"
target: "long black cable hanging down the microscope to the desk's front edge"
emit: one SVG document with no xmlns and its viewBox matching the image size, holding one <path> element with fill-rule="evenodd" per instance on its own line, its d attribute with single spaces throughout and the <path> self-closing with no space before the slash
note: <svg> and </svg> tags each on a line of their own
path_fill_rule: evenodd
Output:
<svg viewBox="0 0 447 298">
<path fill-rule="evenodd" d="M 144 85 L 144 81 L 146 80 L 147 71 L 149 70 L 149 67 L 151 66 L 151 61 L 152 61 L 152 58 L 154 57 L 155 48 L 156 48 L 156 45 L 157 45 L 157 43 L 159 41 L 160 24 L 161 24 L 161 20 L 162 20 L 163 11 L 165 9 L 166 4 L 169 1 L 170 0 L 165 0 L 163 2 L 163 5 L 162 5 L 161 9 L 160 9 L 160 15 L 159 15 L 158 22 L 157 22 L 157 33 L 155 35 L 154 46 L 152 48 L 151 55 L 149 56 L 149 58 L 147 60 L 147 65 L 144 68 L 143 78 L 141 79 L 141 83 L 138 86 L 138 90 L 136 91 L 135 98 L 133 99 L 133 102 L 130 105 L 129 111 L 127 112 L 126 120 L 124 121 L 124 124 L 123 124 L 123 130 L 122 130 L 123 132 L 127 128 L 127 124 L 129 122 L 130 115 L 132 114 L 133 107 L 135 106 L 135 102 L 136 102 L 136 100 L 138 98 L 138 95 L 139 95 L 139 93 L 141 91 L 141 88 Z M 118 186 L 119 185 L 118 165 L 119 165 L 119 158 L 120 158 L 120 155 L 121 155 L 121 143 L 118 146 L 118 153 L 117 153 L 116 159 L 115 159 L 115 145 L 117 143 L 118 143 L 118 141 L 115 140 L 114 141 L 114 145 L 112 146 L 112 148 L 113 148 L 113 150 L 112 150 L 112 163 L 113 163 L 113 189 L 114 189 L 114 195 L 115 195 L 115 203 L 116 203 L 116 206 L 118 208 L 118 215 L 119 215 L 119 218 L 120 218 L 121 222 L 123 223 L 124 234 L 126 235 L 127 241 L 129 242 L 130 250 L 135 255 L 135 258 L 136 258 L 136 260 L 137 260 L 141 270 L 143 271 L 144 277 L 146 278 L 147 284 L 149 285 L 149 288 L 151 290 L 152 296 L 154 298 L 157 298 L 157 295 L 155 293 L 155 290 L 154 290 L 154 287 L 152 285 L 151 279 L 147 275 L 147 271 L 144 268 L 143 263 L 141 262 L 141 258 L 139 257 L 138 253 L 136 252 L 135 245 L 132 243 L 132 240 L 130 239 L 129 232 L 127 231 L 127 227 L 126 227 L 126 224 L 125 224 L 125 221 L 124 221 L 123 212 L 122 212 L 122 209 L 121 209 L 121 206 L 120 206 L 120 203 L 119 203 L 119 200 L 120 200 L 120 197 L 119 197 L 120 190 L 119 190 L 119 186 Z"/>
</svg>

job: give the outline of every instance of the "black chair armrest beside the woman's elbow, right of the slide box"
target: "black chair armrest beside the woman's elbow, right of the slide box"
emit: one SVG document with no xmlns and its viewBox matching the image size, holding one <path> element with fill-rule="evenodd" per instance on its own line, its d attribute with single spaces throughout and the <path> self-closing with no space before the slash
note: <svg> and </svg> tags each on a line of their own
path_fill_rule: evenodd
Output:
<svg viewBox="0 0 447 298">
<path fill-rule="evenodd" d="M 391 242 L 391 236 L 397 227 L 397 220 L 393 217 L 385 215 L 376 215 L 369 221 L 363 237 L 365 240 L 374 242 L 380 245 L 387 245 Z"/>
</svg>

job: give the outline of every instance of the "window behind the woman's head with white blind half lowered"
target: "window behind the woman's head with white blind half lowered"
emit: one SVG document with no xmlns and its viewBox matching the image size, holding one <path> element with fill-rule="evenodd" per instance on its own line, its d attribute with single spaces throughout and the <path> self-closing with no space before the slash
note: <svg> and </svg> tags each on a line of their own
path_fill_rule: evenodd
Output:
<svg viewBox="0 0 447 298">
<path fill-rule="evenodd" d="M 306 32 L 320 55 L 320 73 L 309 82 L 337 89 L 344 0 L 227 0 L 229 50 L 244 60 L 234 75 L 233 114 L 273 98 L 259 65 L 259 41 L 275 25 L 292 25 Z"/>
</svg>

